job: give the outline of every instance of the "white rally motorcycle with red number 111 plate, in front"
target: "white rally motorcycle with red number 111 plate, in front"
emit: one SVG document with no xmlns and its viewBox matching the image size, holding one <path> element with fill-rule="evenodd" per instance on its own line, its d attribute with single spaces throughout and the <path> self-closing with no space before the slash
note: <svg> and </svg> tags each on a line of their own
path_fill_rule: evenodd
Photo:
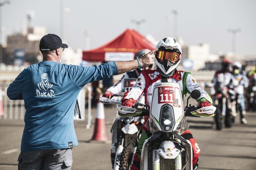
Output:
<svg viewBox="0 0 256 170">
<path fill-rule="evenodd" d="M 193 90 L 189 98 L 197 99 L 200 95 L 199 90 Z M 150 107 L 141 103 L 135 103 L 134 108 L 118 107 L 121 116 L 149 116 L 145 126 L 152 135 L 142 147 L 141 169 L 193 169 L 191 143 L 181 136 L 189 127 L 185 117 L 212 117 L 216 107 L 183 107 L 181 96 L 179 84 L 155 83 Z"/>
</svg>

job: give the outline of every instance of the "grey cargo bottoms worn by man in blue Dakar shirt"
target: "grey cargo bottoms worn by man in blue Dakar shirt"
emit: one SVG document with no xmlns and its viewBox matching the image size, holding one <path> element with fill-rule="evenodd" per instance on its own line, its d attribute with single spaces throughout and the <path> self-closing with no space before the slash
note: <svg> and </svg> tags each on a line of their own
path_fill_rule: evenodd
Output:
<svg viewBox="0 0 256 170">
<path fill-rule="evenodd" d="M 21 151 L 18 157 L 18 170 L 70 170 L 73 162 L 72 150 L 73 148 Z"/>
</svg>

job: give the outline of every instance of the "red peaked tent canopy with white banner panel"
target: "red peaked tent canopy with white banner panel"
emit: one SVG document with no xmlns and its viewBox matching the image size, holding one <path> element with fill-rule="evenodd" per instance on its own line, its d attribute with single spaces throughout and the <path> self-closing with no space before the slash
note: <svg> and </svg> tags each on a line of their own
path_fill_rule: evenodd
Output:
<svg viewBox="0 0 256 170">
<path fill-rule="evenodd" d="M 121 35 L 102 47 L 83 51 L 85 61 L 127 61 L 133 60 L 137 51 L 148 48 L 153 50 L 154 44 L 135 30 L 125 30 Z"/>
</svg>

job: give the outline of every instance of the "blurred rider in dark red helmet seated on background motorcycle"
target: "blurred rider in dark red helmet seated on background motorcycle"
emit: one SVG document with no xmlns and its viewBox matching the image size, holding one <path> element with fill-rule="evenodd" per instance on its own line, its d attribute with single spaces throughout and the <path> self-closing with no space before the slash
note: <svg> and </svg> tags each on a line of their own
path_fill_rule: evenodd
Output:
<svg viewBox="0 0 256 170">
<path fill-rule="evenodd" d="M 238 81 L 235 79 L 234 75 L 232 74 L 232 63 L 229 60 L 222 60 L 221 62 L 221 70 L 217 71 L 214 75 L 214 79 L 213 79 L 213 84 L 214 87 L 217 84 L 217 82 L 219 81 L 219 77 L 217 76 L 218 74 L 222 75 L 222 79 L 223 79 L 223 84 L 221 89 L 227 87 L 229 88 L 228 94 L 230 96 L 230 101 L 231 101 L 231 114 L 236 117 L 237 116 L 237 112 L 235 109 L 235 91 L 234 91 L 234 87 L 238 85 Z M 215 90 L 216 87 L 215 87 Z"/>
</svg>

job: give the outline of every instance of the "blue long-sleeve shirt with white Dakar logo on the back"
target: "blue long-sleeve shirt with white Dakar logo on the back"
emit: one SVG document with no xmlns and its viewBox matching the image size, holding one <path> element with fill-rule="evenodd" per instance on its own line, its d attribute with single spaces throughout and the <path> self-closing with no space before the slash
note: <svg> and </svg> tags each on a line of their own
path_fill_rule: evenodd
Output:
<svg viewBox="0 0 256 170">
<path fill-rule="evenodd" d="M 82 67 L 42 61 L 24 69 L 7 89 L 10 99 L 25 102 L 21 151 L 78 145 L 74 109 L 81 88 L 117 74 L 115 62 Z"/>
</svg>

